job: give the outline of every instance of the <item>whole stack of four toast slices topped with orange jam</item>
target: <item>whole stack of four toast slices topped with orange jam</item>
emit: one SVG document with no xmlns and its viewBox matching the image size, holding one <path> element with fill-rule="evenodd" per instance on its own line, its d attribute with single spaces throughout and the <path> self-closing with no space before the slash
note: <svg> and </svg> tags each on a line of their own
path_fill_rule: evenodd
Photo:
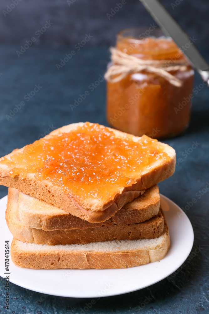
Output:
<svg viewBox="0 0 209 314">
<path fill-rule="evenodd" d="M 96 123 L 76 123 L 0 159 L 11 257 L 27 268 L 126 268 L 165 257 L 157 183 L 175 151 Z"/>
</svg>

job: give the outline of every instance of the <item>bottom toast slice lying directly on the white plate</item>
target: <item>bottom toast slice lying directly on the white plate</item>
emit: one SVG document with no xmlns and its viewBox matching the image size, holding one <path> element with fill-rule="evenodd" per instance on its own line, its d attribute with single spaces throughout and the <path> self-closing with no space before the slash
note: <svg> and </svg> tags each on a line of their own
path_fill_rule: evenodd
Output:
<svg viewBox="0 0 209 314">
<path fill-rule="evenodd" d="M 165 257 L 169 247 L 170 236 L 165 220 L 163 234 L 155 239 L 56 246 L 13 239 L 11 258 L 17 266 L 34 269 L 126 268 L 157 262 Z"/>
</svg>

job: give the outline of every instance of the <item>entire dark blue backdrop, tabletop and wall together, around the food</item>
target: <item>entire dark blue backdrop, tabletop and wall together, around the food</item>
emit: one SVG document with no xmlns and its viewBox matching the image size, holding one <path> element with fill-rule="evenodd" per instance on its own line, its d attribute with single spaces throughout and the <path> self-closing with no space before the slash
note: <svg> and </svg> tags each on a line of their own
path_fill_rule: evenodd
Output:
<svg viewBox="0 0 209 314">
<path fill-rule="evenodd" d="M 15 148 L 32 143 L 51 127 L 79 121 L 98 122 L 107 125 L 105 118 L 106 85 L 102 82 L 77 107 L 71 110 L 70 104 L 83 94 L 88 86 L 103 75 L 109 60 L 108 46 L 114 42 L 115 32 L 129 26 L 152 23 L 138 1 L 127 1 L 109 21 L 107 13 L 116 2 L 84 2 L 76 0 L 70 7 L 66 1 L 26 1 L 22 0 L 6 17 L 0 19 L 0 156 Z M 118 1 L 119 3 L 119 1 Z M 171 3 L 166 7 L 185 27 L 190 35 L 197 36 L 202 53 L 209 59 L 208 10 L 206 1 L 183 0 L 173 10 Z M 175 3 L 173 1 L 173 3 Z M 10 4 L 10 2 L 9 2 Z M 0 12 L 8 5 L 1 1 Z M 29 40 L 45 20 L 54 21 L 40 36 L 40 41 L 26 50 L 19 58 L 16 50 Z M 74 49 L 77 41 L 86 33 L 94 37 L 72 59 L 58 71 L 56 64 Z M 5 46 L 9 44 L 9 46 Z M 68 46 L 66 44 L 71 44 Z M 24 100 L 24 95 L 39 84 L 42 88 L 26 102 L 9 121 L 15 105 Z M 196 75 L 195 86 L 201 84 Z M 195 198 L 195 194 L 206 187 L 209 181 L 209 90 L 204 87 L 195 95 L 192 106 L 190 127 L 177 138 L 165 141 L 175 148 L 177 159 L 183 161 L 176 167 L 175 174 L 159 184 L 160 192 L 180 207 Z M 198 146 L 184 158 L 193 141 Z M 7 194 L 6 187 L 0 187 L 0 198 Z M 102 298 L 86 313 L 137 313 L 145 297 L 152 298 L 140 313 L 208 313 L 208 209 L 209 191 L 186 211 L 194 228 L 196 246 L 201 251 L 187 259 L 183 268 L 151 287 L 126 295 Z M 140 278 L 135 278 L 140 280 Z M 4 279 L 1 287 L 4 288 Z M 41 282 L 40 282 L 41 285 Z M 4 290 L 1 290 L 0 313 L 3 309 Z M 41 295 L 15 284 L 11 284 L 10 309 L 13 313 L 81 313 L 88 299 L 60 298 Z"/>
</svg>

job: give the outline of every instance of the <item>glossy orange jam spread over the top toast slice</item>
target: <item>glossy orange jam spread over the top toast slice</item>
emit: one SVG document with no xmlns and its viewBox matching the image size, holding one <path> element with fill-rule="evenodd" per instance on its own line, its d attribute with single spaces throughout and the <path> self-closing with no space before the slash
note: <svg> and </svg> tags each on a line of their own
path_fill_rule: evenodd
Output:
<svg viewBox="0 0 209 314">
<path fill-rule="evenodd" d="M 162 144 L 146 135 L 134 142 L 130 135 L 119 138 L 107 127 L 86 122 L 70 133 L 41 138 L 0 162 L 12 167 L 11 176 L 34 173 L 77 201 L 105 201 L 136 183 L 144 167 L 168 158 Z"/>
</svg>

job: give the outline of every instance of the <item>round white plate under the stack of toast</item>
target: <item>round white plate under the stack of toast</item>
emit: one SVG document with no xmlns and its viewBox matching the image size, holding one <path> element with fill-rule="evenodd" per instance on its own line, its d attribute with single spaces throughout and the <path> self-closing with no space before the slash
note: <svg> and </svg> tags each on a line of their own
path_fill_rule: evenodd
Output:
<svg viewBox="0 0 209 314">
<path fill-rule="evenodd" d="M 10 281 L 43 294 L 76 298 L 120 295 L 154 284 L 175 272 L 188 257 L 194 241 L 191 223 L 169 198 L 161 195 L 170 232 L 171 246 L 160 261 L 122 269 L 28 269 L 15 266 L 10 258 Z M 0 275 L 4 277 L 4 245 L 12 241 L 4 215 L 7 197 L 0 200 Z M 44 297 L 44 296 L 42 296 Z"/>
</svg>

